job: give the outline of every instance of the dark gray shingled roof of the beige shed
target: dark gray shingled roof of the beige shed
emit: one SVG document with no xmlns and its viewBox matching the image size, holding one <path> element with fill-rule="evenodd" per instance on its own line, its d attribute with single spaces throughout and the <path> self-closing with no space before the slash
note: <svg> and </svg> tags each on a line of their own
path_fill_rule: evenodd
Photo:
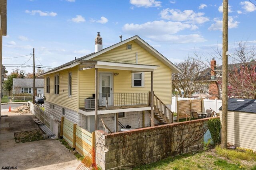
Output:
<svg viewBox="0 0 256 170">
<path fill-rule="evenodd" d="M 222 107 L 220 107 L 222 110 Z M 228 111 L 256 113 L 255 99 L 228 99 Z"/>
</svg>

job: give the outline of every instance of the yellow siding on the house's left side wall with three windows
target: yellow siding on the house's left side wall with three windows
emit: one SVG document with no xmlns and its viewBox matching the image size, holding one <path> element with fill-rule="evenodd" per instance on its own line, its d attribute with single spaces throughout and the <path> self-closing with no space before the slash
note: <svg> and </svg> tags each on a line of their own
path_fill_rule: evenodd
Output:
<svg viewBox="0 0 256 170">
<path fill-rule="evenodd" d="M 72 97 L 68 97 L 68 73 L 72 72 Z M 54 76 L 59 74 L 59 95 L 54 94 Z M 45 93 L 46 101 L 52 104 L 78 111 L 78 66 L 44 76 L 44 91 L 46 92 L 46 77 L 50 76 L 50 94 Z"/>
</svg>

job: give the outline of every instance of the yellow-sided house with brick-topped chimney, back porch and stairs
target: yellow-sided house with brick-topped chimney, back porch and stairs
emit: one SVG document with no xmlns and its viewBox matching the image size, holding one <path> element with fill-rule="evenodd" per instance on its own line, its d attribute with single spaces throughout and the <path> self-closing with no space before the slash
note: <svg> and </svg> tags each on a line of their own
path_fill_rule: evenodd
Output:
<svg viewBox="0 0 256 170">
<path fill-rule="evenodd" d="M 173 63 L 137 35 L 58 66 L 45 80 L 45 111 L 88 131 L 172 123 Z M 103 124 L 104 123 L 104 124 Z"/>
</svg>

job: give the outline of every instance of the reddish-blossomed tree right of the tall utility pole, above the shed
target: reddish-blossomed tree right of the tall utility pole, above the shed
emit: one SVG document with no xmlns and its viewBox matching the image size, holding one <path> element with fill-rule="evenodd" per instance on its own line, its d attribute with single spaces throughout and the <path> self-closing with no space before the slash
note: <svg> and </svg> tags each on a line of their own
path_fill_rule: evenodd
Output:
<svg viewBox="0 0 256 170">
<path fill-rule="evenodd" d="M 256 49 L 238 41 L 228 70 L 228 96 L 256 99 Z"/>
</svg>

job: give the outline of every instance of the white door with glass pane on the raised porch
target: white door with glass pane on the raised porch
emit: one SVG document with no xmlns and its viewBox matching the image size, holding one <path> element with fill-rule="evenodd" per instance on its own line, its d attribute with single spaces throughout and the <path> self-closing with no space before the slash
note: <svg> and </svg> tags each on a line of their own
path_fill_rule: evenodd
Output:
<svg viewBox="0 0 256 170">
<path fill-rule="evenodd" d="M 99 106 L 113 105 L 113 74 L 112 73 L 100 73 L 99 82 Z"/>
</svg>

